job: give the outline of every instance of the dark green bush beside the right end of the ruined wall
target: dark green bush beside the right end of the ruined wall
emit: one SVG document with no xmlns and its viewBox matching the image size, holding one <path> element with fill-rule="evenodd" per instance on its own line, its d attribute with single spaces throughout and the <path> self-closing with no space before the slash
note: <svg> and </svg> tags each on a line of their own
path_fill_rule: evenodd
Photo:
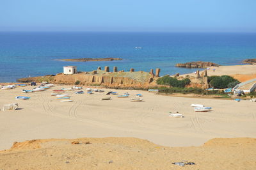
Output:
<svg viewBox="0 0 256 170">
<path fill-rule="evenodd" d="M 170 77 L 169 75 L 165 75 L 164 77 L 161 77 L 157 79 L 157 84 L 161 85 L 168 85 L 172 87 L 179 87 L 179 88 L 184 88 L 187 84 L 190 83 L 190 80 L 188 78 L 183 79 L 179 81 L 176 78 Z"/>
</svg>

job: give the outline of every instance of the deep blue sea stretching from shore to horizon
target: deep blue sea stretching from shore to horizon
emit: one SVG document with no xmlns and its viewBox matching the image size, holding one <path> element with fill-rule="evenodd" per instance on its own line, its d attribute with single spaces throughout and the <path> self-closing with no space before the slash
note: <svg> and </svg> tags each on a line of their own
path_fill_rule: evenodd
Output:
<svg viewBox="0 0 256 170">
<path fill-rule="evenodd" d="M 58 61 L 63 58 L 123 60 Z M 256 58 L 256 33 L 0 32 L 0 82 L 60 73 L 66 65 L 76 65 L 79 71 L 96 70 L 98 66 L 147 72 L 161 68 L 160 75 L 172 75 L 195 71 L 177 68 L 176 63 L 240 65 L 247 58 Z"/>
</svg>

